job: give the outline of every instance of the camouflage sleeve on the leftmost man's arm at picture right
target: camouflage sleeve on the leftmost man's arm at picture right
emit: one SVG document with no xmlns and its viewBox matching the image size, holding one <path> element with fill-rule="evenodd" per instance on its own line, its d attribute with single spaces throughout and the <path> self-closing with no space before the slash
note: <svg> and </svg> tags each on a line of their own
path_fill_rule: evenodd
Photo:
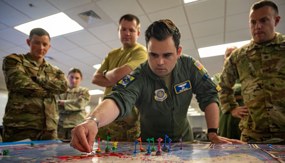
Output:
<svg viewBox="0 0 285 163">
<path fill-rule="evenodd" d="M 67 79 L 64 76 L 64 73 L 59 69 L 56 70 L 56 78 L 58 80 L 48 80 L 43 77 L 37 77 L 37 83 L 53 94 L 65 93 L 68 88 Z"/>
</svg>

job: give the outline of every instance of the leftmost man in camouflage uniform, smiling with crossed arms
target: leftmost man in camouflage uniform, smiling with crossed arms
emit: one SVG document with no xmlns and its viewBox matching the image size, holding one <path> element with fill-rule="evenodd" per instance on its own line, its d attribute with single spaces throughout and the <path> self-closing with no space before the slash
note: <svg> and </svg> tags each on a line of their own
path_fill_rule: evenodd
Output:
<svg viewBox="0 0 285 163">
<path fill-rule="evenodd" d="M 3 60 L 8 102 L 3 117 L 3 142 L 22 139 L 57 139 L 58 107 L 55 94 L 67 90 L 64 73 L 44 59 L 50 36 L 41 28 L 31 30 L 27 54 Z"/>
</svg>

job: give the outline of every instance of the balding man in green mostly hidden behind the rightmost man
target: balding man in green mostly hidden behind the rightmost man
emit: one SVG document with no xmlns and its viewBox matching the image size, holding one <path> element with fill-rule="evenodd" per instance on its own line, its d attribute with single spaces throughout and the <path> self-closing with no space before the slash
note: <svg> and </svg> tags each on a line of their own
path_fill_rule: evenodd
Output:
<svg viewBox="0 0 285 163">
<path fill-rule="evenodd" d="M 225 51 L 224 61 L 227 57 L 235 50 L 237 47 L 230 46 L 227 47 Z M 221 73 L 217 73 L 213 76 L 213 81 L 219 85 L 219 75 Z M 239 104 L 239 106 L 243 106 L 243 100 L 241 97 L 241 82 L 239 79 L 236 80 L 235 85 L 233 86 L 233 91 L 235 95 L 235 100 Z M 240 118 L 233 117 L 229 112 L 223 114 L 221 107 L 219 107 L 220 113 L 220 122 L 219 122 L 219 133 L 222 137 L 227 137 L 229 139 L 240 139 L 241 138 L 241 130 L 239 129 Z"/>
</svg>

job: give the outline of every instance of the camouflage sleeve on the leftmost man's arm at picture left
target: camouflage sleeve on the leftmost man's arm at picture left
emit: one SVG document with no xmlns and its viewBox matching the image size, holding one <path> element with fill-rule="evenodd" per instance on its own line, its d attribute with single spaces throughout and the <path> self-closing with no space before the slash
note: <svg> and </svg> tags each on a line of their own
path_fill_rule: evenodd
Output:
<svg viewBox="0 0 285 163">
<path fill-rule="evenodd" d="M 5 58 L 3 60 L 3 71 L 8 89 L 30 97 L 48 97 L 51 95 L 50 91 L 38 85 L 25 73 L 25 69 L 19 60 Z"/>
</svg>

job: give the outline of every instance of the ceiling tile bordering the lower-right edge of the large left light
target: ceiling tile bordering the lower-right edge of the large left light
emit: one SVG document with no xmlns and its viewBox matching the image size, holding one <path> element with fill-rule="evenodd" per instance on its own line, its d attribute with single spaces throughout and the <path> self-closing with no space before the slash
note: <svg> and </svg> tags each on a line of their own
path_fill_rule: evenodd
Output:
<svg viewBox="0 0 285 163">
<path fill-rule="evenodd" d="M 80 46 L 87 46 L 87 45 L 101 43 L 100 40 L 98 40 L 96 37 L 94 37 L 91 33 L 87 32 L 86 30 L 81 30 L 78 32 L 66 34 L 63 35 L 63 37 Z"/>
</svg>

